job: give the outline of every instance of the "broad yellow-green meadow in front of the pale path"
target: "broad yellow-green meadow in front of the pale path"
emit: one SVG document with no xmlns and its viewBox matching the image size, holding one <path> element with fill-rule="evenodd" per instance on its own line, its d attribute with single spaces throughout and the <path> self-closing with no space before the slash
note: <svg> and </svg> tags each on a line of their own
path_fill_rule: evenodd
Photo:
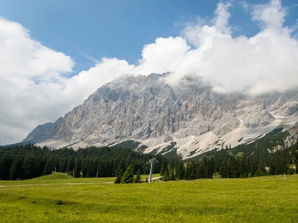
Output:
<svg viewBox="0 0 298 223">
<path fill-rule="evenodd" d="M 62 201 L 58 202 L 58 201 Z M 297 222 L 298 175 L 0 188 L 1 222 Z"/>
</svg>

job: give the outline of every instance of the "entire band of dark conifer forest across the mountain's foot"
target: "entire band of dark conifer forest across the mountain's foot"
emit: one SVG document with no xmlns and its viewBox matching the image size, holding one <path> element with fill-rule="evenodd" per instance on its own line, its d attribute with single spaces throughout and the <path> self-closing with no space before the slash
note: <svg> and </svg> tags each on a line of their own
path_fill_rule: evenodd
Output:
<svg viewBox="0 0 298 223">
<path fill-rule="evenodd" d="M 257 153 L 241 156 L 226 150 L 211 151 L 196 162 L 183 163 L 177 158 L 142 154 L 131 149 L 117 147 L 88 147 L 51 149 L 32 144 L 0 147 L 0 179 L 30 179 L 67 172 L 74 177 L 111 177 L 122 175 L 130 167 L 133 174 L 139 170 L 149 174 L 146 164 L 153 157 L 158 163 L 153 173 L 163 180 L 198 178 L 245 178 L 262 175 L 293 174 L 298 171 L 298 144 L 275 153 Z M 295 168 L 293 168 L 296 167 Z M 267 169 L 266 169 L 267 168 Z M 118 173 L 118 174 L 117 174 Z"/>
</svg>

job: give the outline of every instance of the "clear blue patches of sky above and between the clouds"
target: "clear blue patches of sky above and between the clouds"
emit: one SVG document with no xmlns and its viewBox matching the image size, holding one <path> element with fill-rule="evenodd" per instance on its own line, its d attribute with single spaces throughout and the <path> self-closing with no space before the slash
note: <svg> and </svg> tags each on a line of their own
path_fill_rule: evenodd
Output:
<svg viewBox="0 0 298 223">
<path fill-rule="evenodd" d="M 196 15 L 213 17 L 218 0 L 0 0 L 0 17 L 19 22 L 31 36 L 55 51 L 72 56 L 75 72 L 94 62 L 82 55 L 125 59 L 134 64 L 145 44 L 157 37 L 179 36 L 183 22 Z M 241 3 L 232 1 L 231 23 L 241 33 L 259 31 Z M 250 0 L 265 3 L 267 0 Z M 284 0 L 291 7 L 297 0 Z M 293 7 L 285 24 L 295 23 Z M 180 25 L 179 25 L 180 24 Z"/>
</svg>

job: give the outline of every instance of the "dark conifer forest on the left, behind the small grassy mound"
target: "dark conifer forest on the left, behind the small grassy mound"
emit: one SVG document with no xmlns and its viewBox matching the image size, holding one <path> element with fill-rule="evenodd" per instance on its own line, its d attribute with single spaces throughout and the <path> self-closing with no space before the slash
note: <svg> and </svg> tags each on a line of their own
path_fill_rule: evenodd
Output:
<svg viewBox="0 0 298 223">
<path fill-rule="evenodd" d="M 133 173 L 149 174 L 146 164 L 153 157 L 161 163 L 179 162 L 161 155 L 141 154 L 131 149 L 117 147 L 88 147 L 51 149 L 32 144 L 0 147 L 0 179 L 30 179 L 53 171 L 67 172 L 74 177 L 111 177 L 131 165 Z M 153 173 L 160 172 L 160 164 Z"/>
</svg>

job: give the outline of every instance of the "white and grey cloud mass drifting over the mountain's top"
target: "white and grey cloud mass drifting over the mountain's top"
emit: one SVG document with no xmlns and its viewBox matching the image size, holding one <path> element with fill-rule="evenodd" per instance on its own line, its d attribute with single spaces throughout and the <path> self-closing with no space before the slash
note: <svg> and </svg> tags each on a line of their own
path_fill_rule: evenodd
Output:
<svg viewBox="0 0 298 223">
<path fill-rule="evenodd" d="M 101 85 L 124 74 L 170 71 L 166 82 L 198 75 L 218 92 L 286 91 L 298 85 L 297 24 L 284 26 L 289 10 L 280 0 L 245 5 L 260 31 L 233 36 L 230 2 L 211 19 L 187 23 L 179 37 L 145 45 L 137 64 L 102 58 L 73 77 L 74 60 L 35 41 L 19 23 L 0 18 L 0 144 L 22 140 L 36 125 L 55 121 Z"/>
</svg>

